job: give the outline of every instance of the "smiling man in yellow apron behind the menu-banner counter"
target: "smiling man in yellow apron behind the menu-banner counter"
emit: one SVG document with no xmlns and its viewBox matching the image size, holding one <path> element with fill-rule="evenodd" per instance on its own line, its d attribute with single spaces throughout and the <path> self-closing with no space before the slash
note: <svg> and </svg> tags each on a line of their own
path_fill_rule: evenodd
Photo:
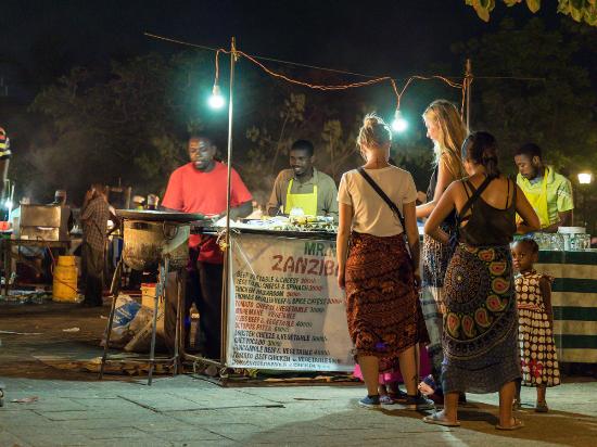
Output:
<svg viewBox="0 0 597 447">
<path fill-rule="evenodd" d="M 314 153 L 310 141 L 292 144 L 291 168 L 278 174 L 267 204 L 270 216 L 331 216 L 338 221 L 338 188 L 330 176 L 313 166 Z"/>
</svg>

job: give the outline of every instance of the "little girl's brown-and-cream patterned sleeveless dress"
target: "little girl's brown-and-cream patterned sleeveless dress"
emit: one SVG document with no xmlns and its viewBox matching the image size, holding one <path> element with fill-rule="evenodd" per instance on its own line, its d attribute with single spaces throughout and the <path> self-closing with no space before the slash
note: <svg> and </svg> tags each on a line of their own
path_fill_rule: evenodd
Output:
<svg viewBox="0 0 597 447">
<path fill-rule="evenodd" d="M 552 281 L 551 277 L 537 273 L 535 270 L 519 274 L 515 279 L 522 384 L 526 386 L 560 384 L 554 330 L 539 289 L 542 278 Z"/>
</svg>

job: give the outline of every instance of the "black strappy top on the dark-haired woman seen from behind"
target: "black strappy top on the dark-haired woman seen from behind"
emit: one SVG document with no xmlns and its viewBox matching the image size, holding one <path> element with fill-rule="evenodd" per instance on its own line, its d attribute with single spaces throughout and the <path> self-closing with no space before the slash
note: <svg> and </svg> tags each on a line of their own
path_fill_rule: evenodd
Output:
<svg viewBox="0 0 597 447">
<path fill-rule="evenodd" d="M 467 191 L 467 195 L 470 197 L 468 188 L 470 188 L 473 193 L 477 189 L 469 180 L 461 181 L 465 186 L 465 191 Z M 508 179 L 505 208 L 496 208 L 486 203 L 481 196 L 477 199 L 471 206 L 471 214 L 461 218 L 461 221 L 468 220 L 468 222 L 466 226 L 460 227 L 460 242 L 472 246 L 508 245 L 512 242 L 512 237 L 517 231 L 517 188 L 515 184 L 512 203 L 508 206 L 510 182 L 511 180 Z"/>
</svg>

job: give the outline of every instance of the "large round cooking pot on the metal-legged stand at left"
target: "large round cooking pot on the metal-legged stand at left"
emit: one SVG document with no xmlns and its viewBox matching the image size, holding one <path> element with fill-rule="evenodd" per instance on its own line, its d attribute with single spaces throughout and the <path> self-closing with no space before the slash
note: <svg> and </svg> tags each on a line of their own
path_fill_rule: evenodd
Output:
<svg viewBox="0 0 597 447">
<path fill-rule="evenodd" d="M 148 271 L 168 256 L 170 270 L 183 268 L 189 261 L 190 230 L 188 222 L 125 219 L 123 259 L 135 270 Z"/>
</svg>

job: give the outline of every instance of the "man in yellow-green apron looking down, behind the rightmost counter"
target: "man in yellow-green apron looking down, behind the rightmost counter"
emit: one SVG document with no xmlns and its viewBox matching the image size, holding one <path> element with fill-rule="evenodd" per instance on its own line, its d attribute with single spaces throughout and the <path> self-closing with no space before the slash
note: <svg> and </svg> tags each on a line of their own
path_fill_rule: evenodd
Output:
<svg viewBox="0 0 597 447">
<path fill-rule="evenodd" d="M 572 225 L 572 183 L 554 167 L 543 163 L 541 148 L 534 143 L 515 152 L 517 183 L 539 217 L 542 231 L 557 232 Z"/>
</svg>

